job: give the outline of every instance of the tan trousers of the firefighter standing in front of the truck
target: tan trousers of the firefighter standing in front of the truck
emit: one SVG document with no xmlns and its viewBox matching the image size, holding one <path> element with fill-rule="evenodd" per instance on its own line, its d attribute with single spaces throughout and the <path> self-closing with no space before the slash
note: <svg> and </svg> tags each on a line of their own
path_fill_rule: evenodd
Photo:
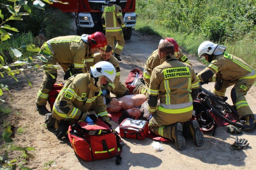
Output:
<svg viewBox="0 0 256 170">
<path fill-rule="evenodd" d="M 108 32 L 108 30 L 106 30 L 106 38 L 107 38 L 107 42 L 109 45 L 112 46 L 112 51 L 114 51 L 114 53 L 121 55 L 121 52 L 123 50 L 123 46 L 124 46 L 124 37 L 123 37 L 123 31 L 117 31 L 117 32 Z M 117 45 L 114 48 L 114 42 L 115 39 L 117 40 Z"/>
</svg>

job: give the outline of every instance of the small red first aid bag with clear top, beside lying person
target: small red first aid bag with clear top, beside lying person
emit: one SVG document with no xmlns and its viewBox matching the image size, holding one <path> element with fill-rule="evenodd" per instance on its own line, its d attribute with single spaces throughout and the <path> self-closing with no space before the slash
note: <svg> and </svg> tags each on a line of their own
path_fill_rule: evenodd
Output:
<svg viewBox="0 0 256 170">
<path fill-rule="evenodd" d="M 119 125 L 120 136 L 131 139 L 145 139 L 148 135 L 148 122 L 126 118 Z"/>
</svg>

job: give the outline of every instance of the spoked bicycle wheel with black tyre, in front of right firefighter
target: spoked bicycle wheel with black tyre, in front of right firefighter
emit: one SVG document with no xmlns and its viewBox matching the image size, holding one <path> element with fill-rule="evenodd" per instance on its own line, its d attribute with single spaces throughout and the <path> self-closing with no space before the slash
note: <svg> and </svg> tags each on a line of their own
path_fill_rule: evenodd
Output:
<svg viewBox="0 0 256 170">
<path fill-rule="evenodd" d="M 205 99 L 205 102 L 209 108 L 212 108 L 213 113 L 218 115 L 225 122 L 238 128 L 242 128 L 239 114 L 228 103 L 215 96 L 208 96 L 208 98 Z"/>
</svg>

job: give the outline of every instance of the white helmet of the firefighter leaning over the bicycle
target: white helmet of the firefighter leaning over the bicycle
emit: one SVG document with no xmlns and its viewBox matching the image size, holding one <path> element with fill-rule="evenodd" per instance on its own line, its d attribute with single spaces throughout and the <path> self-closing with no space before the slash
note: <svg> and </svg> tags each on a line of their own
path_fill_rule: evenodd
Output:
<svg viewBox="0 0 256 170">
<path fill-rule="evenodd" d="M 205 54 L 220 55 L 220 54 L 224 53 L 224 51 L 226 49 L 227 49 L 227 47 L 225 47 L 225 46 L 214 44 L 211 41 L 205 41 L 199 45 L 197 52 L 198 52 L 199 59 L 202 60 L 204 58 Z"/>
</svg>

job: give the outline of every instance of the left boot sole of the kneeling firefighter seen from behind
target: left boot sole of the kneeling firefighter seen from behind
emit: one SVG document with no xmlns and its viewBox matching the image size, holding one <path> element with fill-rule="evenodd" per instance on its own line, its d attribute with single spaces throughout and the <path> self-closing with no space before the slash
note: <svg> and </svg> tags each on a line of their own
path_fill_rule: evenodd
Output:
<svg viewBox="0 0 256 170">
<path fill-rule="evenodd" d="M 178 150 L 183 150 L 185 148 L 185 138 L 182 135 L 182 125 L 181 123 L 175 123 L 171 128 L 171 137 L 175 141 L 175 146 Z"/>
</svg>

